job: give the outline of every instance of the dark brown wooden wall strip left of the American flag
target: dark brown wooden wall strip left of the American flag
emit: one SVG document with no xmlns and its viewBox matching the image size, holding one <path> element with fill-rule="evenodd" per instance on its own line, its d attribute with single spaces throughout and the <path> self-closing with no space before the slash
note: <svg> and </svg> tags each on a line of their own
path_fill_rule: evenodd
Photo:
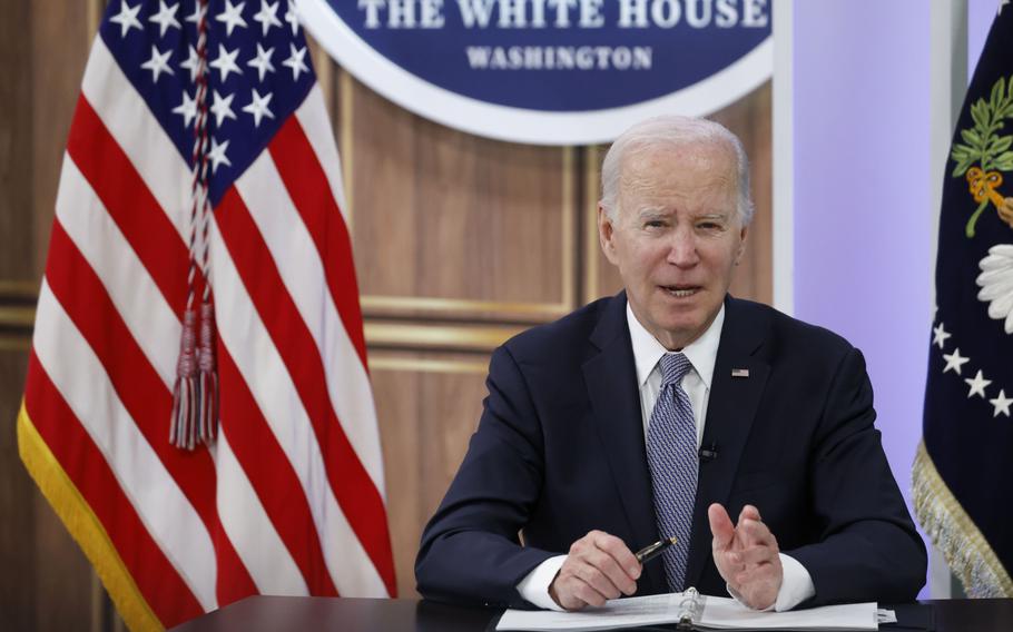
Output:
<svg viewBox="0 0 1013 632">
<path fill-rule="evenodd" d="M 21 464 L 14 424 L 67 131 L 101 2 L 7 2 L 0 20 L 0 624 L 106 630 L 91 566 Z"/>
</svg>

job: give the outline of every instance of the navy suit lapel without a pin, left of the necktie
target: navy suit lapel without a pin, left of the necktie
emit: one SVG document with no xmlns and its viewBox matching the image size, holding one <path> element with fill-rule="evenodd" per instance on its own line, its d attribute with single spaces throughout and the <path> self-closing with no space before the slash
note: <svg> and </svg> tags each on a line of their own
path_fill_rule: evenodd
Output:
<svg viewBox="0 0 1013 632">
<path fill-rule="evenodd" d="M 624 294 L 612 298 L 606 307 L 590 342 L 599 349 L 582 367 L 591 415 L 630 525 L 633 541 L 627 544 L 636 551 L 657 541 L 658 526 Z M 660 564 L 647 564 L 643 579 L 650 585 L 641 585 L 641 593 L 665 592 Z"/>
</svg>

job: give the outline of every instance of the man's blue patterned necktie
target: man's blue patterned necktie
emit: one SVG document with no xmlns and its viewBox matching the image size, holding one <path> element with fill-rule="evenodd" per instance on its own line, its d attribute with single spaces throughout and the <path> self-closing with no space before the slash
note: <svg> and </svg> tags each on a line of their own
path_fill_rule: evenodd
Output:
<svg viewBox="0 0 1013 632">
<path fill-rule="evenodd" d="M 681 353 L 661 356 L 661 394 L 647 428 L 647 462 L 651 470 L 655 515 L 661 537 L 679 542 L 663 553 L 665 577 L 672 592 L 683 590 L 689 560 L 692 507 L 697 497 L 697 425 L 682 376 L 692 368 Z"/>
</svg>

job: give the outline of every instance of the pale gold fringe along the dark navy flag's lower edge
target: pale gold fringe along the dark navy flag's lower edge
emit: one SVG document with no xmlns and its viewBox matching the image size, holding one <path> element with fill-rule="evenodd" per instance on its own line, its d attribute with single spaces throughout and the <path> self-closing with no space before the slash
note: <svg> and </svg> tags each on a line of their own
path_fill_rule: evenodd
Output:
<svg viewBox="0 0 1013 632">
<path fill-rule="evenodd" d="M 1013 598 L 1010 573 L 940 476 L 924 441 L 915 454 L 912 485 L 918 522 L 943 552 L 967 596 Z"/>
</svg>

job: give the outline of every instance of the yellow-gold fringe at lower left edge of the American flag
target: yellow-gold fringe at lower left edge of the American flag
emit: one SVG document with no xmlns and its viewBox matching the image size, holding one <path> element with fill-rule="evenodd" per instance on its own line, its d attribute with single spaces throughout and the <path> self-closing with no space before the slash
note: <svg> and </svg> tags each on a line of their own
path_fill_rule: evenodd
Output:
<svg viewBox="0 0 1013 632">
<path fill-rule="evenodd" d="M 164 630 L 98 516 L 39 435 L 23 401 L 18 413 L 18 452 L 42 495 L 91 562 L 127 626 L 134 632 Z"/>
</svg>

